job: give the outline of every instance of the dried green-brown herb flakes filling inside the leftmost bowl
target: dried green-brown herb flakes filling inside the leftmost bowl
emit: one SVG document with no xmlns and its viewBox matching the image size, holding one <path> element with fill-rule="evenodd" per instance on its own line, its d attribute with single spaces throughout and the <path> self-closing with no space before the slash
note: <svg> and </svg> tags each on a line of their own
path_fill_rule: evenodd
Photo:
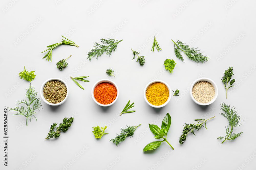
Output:
<svg viewBox="0 0 256 170">
<path fill-rule="evenodd" d="M 49 81 L 43 88 L 43 95 L 46 101 L 56 104 L 65 99 L 67 87 L 60 81 Z"/>
</svg>

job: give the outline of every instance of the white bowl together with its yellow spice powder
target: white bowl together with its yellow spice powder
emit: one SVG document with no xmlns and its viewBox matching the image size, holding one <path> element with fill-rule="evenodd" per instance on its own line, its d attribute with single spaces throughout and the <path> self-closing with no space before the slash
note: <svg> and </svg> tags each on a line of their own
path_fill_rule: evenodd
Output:
<svg viewBox="0 0 256 170">
<path fill-rule="evenodd" d="M 148 83 L 144 90 L 146 103 L 154 108 L 164 107 L 171 99 L 171 89 L 167 83 L 155 80 Z"/>
</svg>

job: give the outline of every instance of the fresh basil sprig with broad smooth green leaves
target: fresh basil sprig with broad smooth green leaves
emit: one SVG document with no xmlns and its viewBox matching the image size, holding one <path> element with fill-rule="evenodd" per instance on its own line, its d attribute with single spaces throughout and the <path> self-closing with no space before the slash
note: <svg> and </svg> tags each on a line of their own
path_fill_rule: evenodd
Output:
<svg viewBox="0 0 256 170">
<path fill-rule="evenodd" d="M 163 138 L 164 140 L 162 141 L 153 141 L 153 142 L 150 142 L 148 143 L 144 149 L 143 149 L 143 152 L 144 151 L 148 151 L 148 150 L 153 150 L 153 149 L 156 149 L 158 148 L 162 142 L 167 142 L 168 145 L 174 149 L 172 147 L 172 145 L 170 145 L 170 143 L 166 140 L 166 136 L 167 136 L 167 132 L 170 128 L 170 125 L 171 125 L 171 116 L 169 113 L 167 113 L 162 121 L 162 126 L 161 126 L 161 129 L 157 126 L 157 125 L 154 125 L 154 124 L 148 124 L 149 125 L 149 128 L 151 130 L 151 132 L 155 135 L 154 138 L 156 139 L 161 139 Z M 165 137 L 164 137 L 165 136 Z"/>
</svg>

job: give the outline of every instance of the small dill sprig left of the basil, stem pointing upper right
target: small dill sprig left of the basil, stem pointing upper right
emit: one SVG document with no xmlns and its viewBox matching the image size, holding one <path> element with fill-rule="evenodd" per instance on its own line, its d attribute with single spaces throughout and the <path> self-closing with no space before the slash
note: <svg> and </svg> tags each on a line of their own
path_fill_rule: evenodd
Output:
<svg viewBox="0 0 256 170">
<path fill-rule="evenodd" d="M 140 126 L 141 124 L 139 124 L 138 126 Z M 111 142 L 115 143 L 116 146 L 118 146 L 121 142 L 123 142 L 125 140 L 125 138 L 127 136 L 130 136 L 132 137 L 133 134 L 134 134 L 134 131 L 136 130 L 136 128 L 138 126 L 126 126 L 124 129 L 121 128 L 121 132 L 120 134 L 113 138 L 113 139 L 110 139 Z"/>
</svg>

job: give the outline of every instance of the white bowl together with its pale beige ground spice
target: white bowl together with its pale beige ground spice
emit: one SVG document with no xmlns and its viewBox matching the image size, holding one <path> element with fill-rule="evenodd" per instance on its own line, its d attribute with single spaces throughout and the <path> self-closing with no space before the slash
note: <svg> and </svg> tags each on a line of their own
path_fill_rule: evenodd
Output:
<svg viewBox="0 0 256 170">
<path fill-rule="evenodd" d="M 214 81 L 203 77 L 192 83 L 190 96 L 195 103 L 206 106 L 217 99 L 218 87 Z"/>
</svg>

